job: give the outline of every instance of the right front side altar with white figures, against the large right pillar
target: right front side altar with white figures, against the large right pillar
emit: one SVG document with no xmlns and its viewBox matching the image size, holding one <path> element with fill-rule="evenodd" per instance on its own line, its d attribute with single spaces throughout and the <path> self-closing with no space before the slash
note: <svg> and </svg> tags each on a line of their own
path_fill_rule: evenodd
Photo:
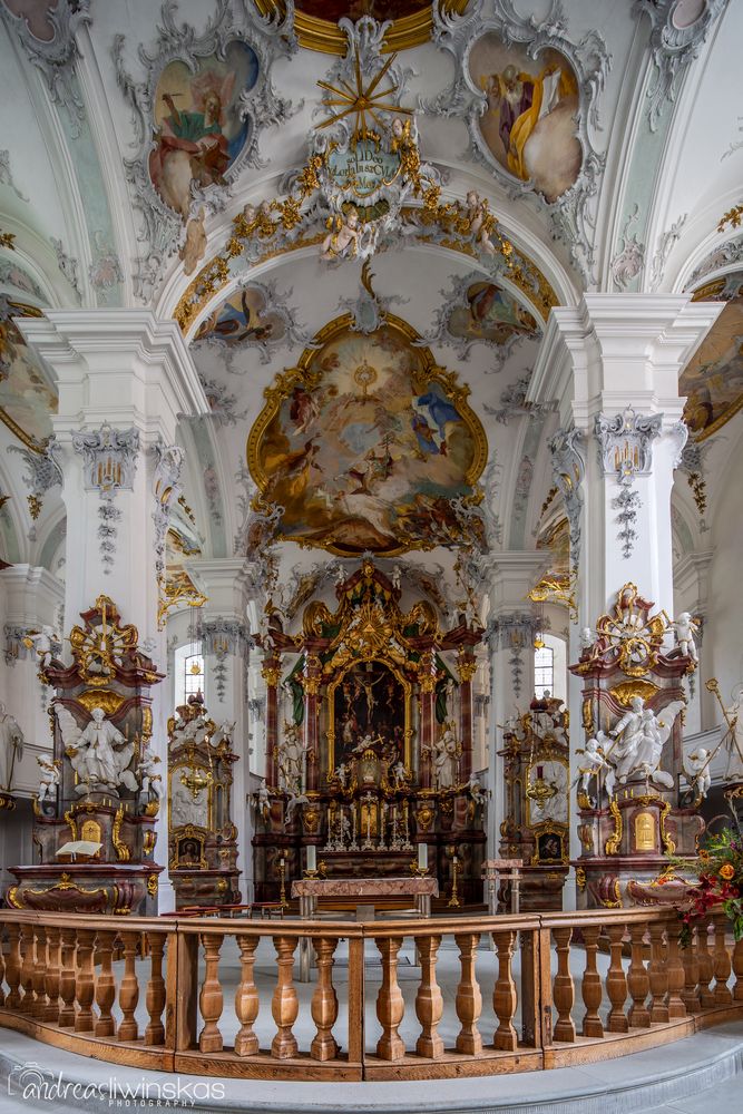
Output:
<svg viewBox="0 0 743 1114">
<path fill-rule="evenodd" d="M 583 680 L 586 744 L 578 762 L 575 862 L 579 908 L 652 905 L 684 888 L 666 852 L 694 858 L 708 759 L 684 766 L 683 677 L 696 668 L 691 617 L 653 614 L 625 584 L 570 672 Z M 675 645 L 666 636 L 675 633 Z M 682 778 L 693 790 L 682 786 Z M 708 774 L 706 785 L 708 786 Z"/>
</svg>

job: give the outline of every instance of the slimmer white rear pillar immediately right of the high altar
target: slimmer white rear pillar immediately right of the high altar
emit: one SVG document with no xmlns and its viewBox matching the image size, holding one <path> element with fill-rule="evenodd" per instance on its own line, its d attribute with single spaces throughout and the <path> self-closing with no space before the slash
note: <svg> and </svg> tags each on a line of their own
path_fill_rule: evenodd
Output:
<svg viewBox="0 0 743 1114">
<path fill-rule="evenodd" d="M 499 858 L 500 825 L 506 819 L 502 725 L 525 712 L 534 696 L 536 616 L 528 594 L 545 570 L 542 553 L 490 554 L 488 641 L 490 647 L 489 769 L 492 798 L 488 809 L 488 858 Z"/>
</svg>

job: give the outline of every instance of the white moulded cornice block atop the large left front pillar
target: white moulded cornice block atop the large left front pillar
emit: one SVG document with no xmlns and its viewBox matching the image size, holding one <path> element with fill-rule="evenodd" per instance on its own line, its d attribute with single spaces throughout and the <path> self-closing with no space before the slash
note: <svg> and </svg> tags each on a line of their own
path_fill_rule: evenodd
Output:
<svg viewBox="0 0 743 1114">
<path fill-rule="evenodd" d="M 175 321 L 149 310 L 48 310 L 22 319 L 26 340 L 59 388 L 55 432 L 70 427 L 134 426 L 146 440 L 173 440 L 179 413 L 209 405 Z"/>
</svg>

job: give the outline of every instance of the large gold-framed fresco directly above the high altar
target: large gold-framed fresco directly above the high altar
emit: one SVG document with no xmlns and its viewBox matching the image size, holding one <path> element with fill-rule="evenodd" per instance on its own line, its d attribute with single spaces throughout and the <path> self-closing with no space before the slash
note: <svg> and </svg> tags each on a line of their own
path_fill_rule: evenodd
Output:
<svg viewBox="0 0 743 1114">
<path fill-rule="evenodd" d="M 248 466 L 281 537 L 380 555 L 468 540 L 485 432 L 416 339 L 391 315 L 370 335 L 339 319 L 266 392 Z"/>
</svg>

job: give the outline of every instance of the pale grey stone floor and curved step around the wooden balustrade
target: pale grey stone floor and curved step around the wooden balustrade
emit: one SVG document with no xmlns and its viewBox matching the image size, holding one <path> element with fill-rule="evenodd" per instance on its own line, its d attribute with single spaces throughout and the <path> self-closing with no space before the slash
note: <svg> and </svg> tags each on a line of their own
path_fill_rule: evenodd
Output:
<svg viewBox="0 0 743 1114">
<path fill-rule="evenodd" d="M 221 1028 L 225 1044 L 233 1042 L 237 1020 L 233 1009 L 234 989 L 238 978 L 237 948 L 225 941 L 219 964 L 225 1008 Z M 399 980 L 405 999 L 405 1016 L 400 1033 L 409 1047 L 414 1045 L 419 1027 L 416 1020 L 414 995 L 420 971 L 413 966 L 410 946 L 401 951 Z M 335 1035 L 346 1044 L 346 1010 L 344 986 L 348 951 L 339 945 L 333 981 L 339 995 L 339 1019 Z M 583 955 L 575 952 L 576 967 Z M 606 969 L 607 958 L 599 957 Z M 117 966 L 117 971 L 120 965 Z M 497 962 L 487 947 L 478 952 L 477 973 L 482 989 L 483 1008 L 480 1030 L 486 1042 L 497 1020 L 492 1012 L 492 986 Z M 576 969 L 576 976 L 579 970 Z M 146 967 L 143 967 L 143 988 Z M 516 962 L 518 981 L 518 960 Z M 373 1052 L 380 1026 L 374 1015 L 374 986 L 381 981 L 375 948 L 368 944 L 365 977 L 368 983 L 366 1047 Z M 444 999 L 440 1032 L 444 1044 L 453 1043 L 458 1030 L 454 1010 L 456 986 L 459 979 L 458 950 L 453 940 L 442 942 L 438 979 Z M 261 1045 L 267 1046 L 275 1027 L 271 1017 L 270 998 L 275 983 L 274 950 L 262 941 L 256 959 L 256 984 L 261 994 L 261 1012 L 255 1024 Z M 296 984 L 300 1015 L 294 1027 L 301 1049 L 309 1047 L 314 1035 L 310 1016 L 312 984 Z M 371 991 L 371 993 L 370 993 Z M 576 987 L 579 1000 L 579 985 Z M 146 1020 L 140 996 L 138 1016 Z M 630 1112 L 665 1112 L 665 1114 L 743 1114 L 743 1025 L 727 1024 L 700 1033 L 694 1037 L 649 1052 L 605 1061 L 575 1068 L 531 1072 L 519 1075 L 489 1076 L 479 1079 L 447 1079 L 411 1083 L 270 1083 L 236 1079 L 195 1079 L 157 1072 L 123 1068 L 99 1061 L 42 1045 L 21 1034 L 0 1029 L 0 1114 L 22 1110 L 50 1110 L 63 1114 L 72 1110 L 162 1110 L 193 1111 L 291 1112 L 291 1114 L 336 1114 L 355 1110 L 370 1114 L 404 1111 L 450 1111 L 452 1114 L 488 1111 L 509 1114 L 630 1114 Z M 46 1079 L 39 1083 L 39 1079 Z M 49 1089 L 55 1081 L 58 1092 Z M 88 1084 L 88 1094 L 74 1083 Z M 172 1088 L 170 1091 L 166 1089 Z M 180 1088 L 180 1102 L 173 1096 Z M 201 1088 L 194 1092 L 194 1087 Z M 85 1091 L 85 1088 L 82 1088 Z M 25 1096 L 26 1092 L 26 1096 Z M 149 1095 L 150 1102 L 143 1102 Z M 45 1095 L 47 1097 L 45 1097 Z M 168 1095 L 170 1097 L 168 1098 Z"/>
</svg>

